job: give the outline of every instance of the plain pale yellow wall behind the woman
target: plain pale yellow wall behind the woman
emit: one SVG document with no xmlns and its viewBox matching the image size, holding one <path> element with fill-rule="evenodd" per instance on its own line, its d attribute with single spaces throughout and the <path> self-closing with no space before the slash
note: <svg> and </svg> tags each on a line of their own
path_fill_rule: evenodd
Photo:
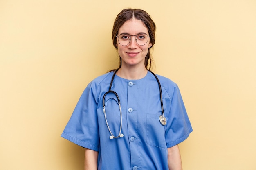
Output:
<svg viewBox="0 0 256 170">
<path fill-rule="evenodd" d="M 85 86 L 118 65 L 121 9 L 157 24 L 154 72 L 175 81 L 193 126 L 184 170 L 256 169 L 255 0 L 1 0 L 0 170 L 82 170 L 60 135 Z"/>
</svg>

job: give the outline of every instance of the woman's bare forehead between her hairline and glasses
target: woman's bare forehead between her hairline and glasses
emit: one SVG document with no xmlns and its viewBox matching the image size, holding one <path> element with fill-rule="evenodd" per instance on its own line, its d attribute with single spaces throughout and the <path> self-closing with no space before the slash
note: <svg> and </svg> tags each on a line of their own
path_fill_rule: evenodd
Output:
<svg viewBox="0 0 256 170">
<path fill-rule="evenodd" d="M 148 28 L 144 25 L 141 20 L 130 19 L 124 22 L 124 24 L 119 28 L 118 33 L 128 33 L 130 35 L 136 35 L 137 33 L 146 33 L 148 34 Z"/>
</svg>

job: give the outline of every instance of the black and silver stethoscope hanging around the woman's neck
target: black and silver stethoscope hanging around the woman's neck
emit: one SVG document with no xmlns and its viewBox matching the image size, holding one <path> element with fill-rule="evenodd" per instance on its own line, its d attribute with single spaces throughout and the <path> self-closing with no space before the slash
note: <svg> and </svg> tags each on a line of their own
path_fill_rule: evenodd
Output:
<svg viewBox="0 0 256 170">
<path fill-rule="evenodd" d="M 119 68 L 118 68 L 119 69 Z M 112 79 L 111 79 L 111 82 L 110 82 L 110 86 L 109 86 L 109 89 L 108 89 L 108 92 L 106 92 L 104 95 L 103 95 L 103 113 L 104 113 L 104 117 L 105 117 L 105 121 L 106 121 L 106 124 L 107 124 L 107 127 L 108 127 L 108 131 L 110 132 L 110 139 L 115 139 L 115 138 L 119 138 L 119 137 L 124 137 L 124 134 L 121 133 L 121 130 L 122 130 L 122 111 L 121 111 L 121 104 L 120 104 L 120 99 L 119 99 L 119 96 L 117 95 L 117 93 L 115 91 L 112 91 L 111 90 L 111 86 L 112 86 L 112 83 L 113 83 L 113 80 L 114 80 L 114 77 L 117 73 L 117 70 L 115 70 L 113 76 L 112 76 Z M 150 71 L 150 70 L 148 70 Z M 159 85 L 159 92 L 160 92 L 160 102 L 161 102 L 161 107 L 162 107 L 162 114 L 159 116 L 159 121 L 160 123 L 164 126 L 166 125 L 166 118 L 164 117 L 164 107 L 163 107 L 163 99 L 162 99 L 162 89 L 161 89 L 161 84 L 160 84 L 160 81 L 159 79 L 157 78 L 157 76 L 152 72 L 150 71 L 156 78 L 157 80 L 157 83 Z M 112 93 L 112 94 L 115 94 L 115 96 L 117 97 L 117 102 L 118 102 L 118 105 L 119 105 L 119 112 L 120 112 L 120 129 L 119 129 L 119 134 L 117 136 L 114 136 L 112 131 L 110 130 L 110 127 L 108 125 L 108 120 L 107 120 L 107 117 L 106 117 L 106 111 L 105 111 L 105 96 L 108 94 L 108 93 Z"/>
</svg>

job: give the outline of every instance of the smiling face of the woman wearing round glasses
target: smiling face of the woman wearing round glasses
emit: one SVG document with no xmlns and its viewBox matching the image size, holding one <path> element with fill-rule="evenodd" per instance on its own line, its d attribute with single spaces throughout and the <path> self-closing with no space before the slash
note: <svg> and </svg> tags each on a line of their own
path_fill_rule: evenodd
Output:
<svg viewBox="0 0 256 170">
<path fill-rule="evenodd" d="M 145 35 L 146 38 L 147 36 L 149 36 L 146 26 L 144 26 L 141 20 L 137 19 L 130 19 L 119 28 L 117 35 L 119 36 L 119 39 L 122 37 L 127 38 L 126 35 Z M 148 38 L 148 42 L 145 45 L 141 46 L 136 43 L 135 38 L 135 36 L 131 36 L 130 43 L 126 46 L 122 46 L 121 44 L 119 44 L 117 39 L 116 46 L 118 54 L 122 59 L 122 67 L 145 67 L 144 60 L 148 53 L 148 48 L 152 46 L 152 43 L 150 43 L 150 38 Z"/>
</svg>

